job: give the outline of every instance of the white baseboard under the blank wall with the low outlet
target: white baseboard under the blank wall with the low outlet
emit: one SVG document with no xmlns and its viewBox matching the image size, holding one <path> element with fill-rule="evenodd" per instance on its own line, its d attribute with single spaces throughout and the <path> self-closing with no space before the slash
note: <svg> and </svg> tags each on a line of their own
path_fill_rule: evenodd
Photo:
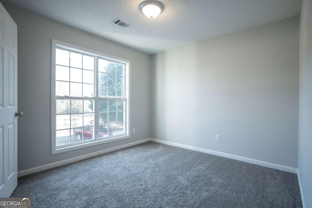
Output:
<svg viewBox="0 0 312 208">
<path fill-rule="evenodd" d="M 161 143 L 161 144 L 171 145 L 171 146 L 175 146 L 175 147 L 180 147 L 180 148 L 184 148 L 184 149 L 188 149 L 188 150 L 194 150 L 194 151 L 200 151 L 200 152 L 204 152 L 204 153 L 208 153 L 208 154 L 214 154 L 217 156 L 226 157 L 226 158 L 230 158 L 230 159 L 234 159 L 234 160 L 239 160 L 239 161 L 243 161 L 243 162 L 247 162 L 247 163 L 252 163 L 252 164 L 264 166 L 267 168 L 273 168 L 276 170 L 283 170 L 283 171 L 287 171 L 287 172 L 297 173 L 296 168 L 292 168 L 292 167 L 288 167 L 288 166 L 282 166 L 282 165 L 278 165 L 278 164 L 274 164 L 274 163 L 268 163 L 268 162 L 264 162 L 264 161 L 260 161 L 260 160 L 254 160 L 251 158 L 241 157 L 241 156 L 237 156 L 234 154 L 227 154 L 227 153 L 223 153 L 223 152 L 219 152 L 219 151 L 212 151 L 212 150 L 197 148 L 197 147 L 193 147 L 193 146 L 182 145 L 182 144 L 178 144 L 178 143 L 174 143 L 174 142 L 163 141 L 163 140 L 159 140 L 159 139 L 151 139 L 151 141 Z"/>
</svg>

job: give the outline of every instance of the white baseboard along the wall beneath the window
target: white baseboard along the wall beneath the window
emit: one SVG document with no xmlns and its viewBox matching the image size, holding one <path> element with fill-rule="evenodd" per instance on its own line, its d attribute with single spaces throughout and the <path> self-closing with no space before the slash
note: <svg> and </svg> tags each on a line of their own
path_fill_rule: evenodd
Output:
<svg viewBox="0 0 312 208">
<path fill-rule="evenodd" d="M 129 143 L 129 144 L 120 145 L 120 146 L 113 147 L 113 148 L 110 148 L 110 149 L 106 149 L 106 150 L 92 152 L 92 153 L 89 153 L 89 154 L 80 155 L 78 157 L 73 157 L 73 158 L 70 158 L 70 159 L 61 160 L 61 161 L 58 161 L 58 162 L 55 162 L 55 163 L 50 163 L 50 164 L 46 164 L 46 165 L 43 165 L 43 166 L 38 166 L 38 167 L 35 167 L 35 168 L 31 168 L 31 169 L 21 170 L 21 171 L 18 171 L 18 177 L 23 176 L 23 175 L 28 175 L 28 174 L 31 174 L 31 173 L 35 173 L 35 172 L 39 172 L 39 171 L 43 171 L 43 170 L 48 170 L 48 169 L 51 169 L 51 168 L 56 168 L 56 167 L 59 167 L 59 166 L 62 166 L 62 165 L 66 165 L 66 164 L 69 164 L 69 163 L 77 162 L 79 160 L 83 160 L 83 159 L 87 159 L 87 158 L 90 158 L 90 157 L 98 156 L 98 155 L 105 154 L 105 153 L 108 153 L 108 152 L 111 152 L 111 151 L 121 150 L 121 149 L 124 149 L 124 148 L 127 148 L 127 147 L 135 146 L 135 145 L 138 145 L 138 144 L 141 144 L 141 143 L 145 143 L 145 142 L 149 142 L 149 141 L 151 141 L 150 138 L 143 139 L 143 140 L 140 140 L 140 141 L 137 141 L 137 142 L 132 142 L 132 143 Z"/>
</svg>

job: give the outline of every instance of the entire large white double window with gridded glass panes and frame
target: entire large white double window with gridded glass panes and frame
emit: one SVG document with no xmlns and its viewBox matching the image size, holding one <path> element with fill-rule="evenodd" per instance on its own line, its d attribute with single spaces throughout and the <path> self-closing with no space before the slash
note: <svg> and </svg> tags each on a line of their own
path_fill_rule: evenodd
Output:
<svg viewBox="0 0 312 208">
<path fill-rule="evenodd" d="M 130 61 L 52 40 L 52 154 L 129 138 Z"/>
</svg>

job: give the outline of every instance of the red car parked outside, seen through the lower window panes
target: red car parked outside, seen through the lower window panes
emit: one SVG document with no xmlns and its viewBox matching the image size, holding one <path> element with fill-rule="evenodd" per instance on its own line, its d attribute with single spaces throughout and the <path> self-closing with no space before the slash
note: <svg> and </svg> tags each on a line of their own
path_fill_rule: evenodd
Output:
<svg viewBox="0 0 312 208">
<path fill-rule="evenodd" d="M 91 125 L 86 125 L 86 126 L 78 127 L 77 129 L 74 129 L 75 134 L 76 134 L 76 141 L 82 141 L 82 135 L 84 139 L 94 139 L 93 130 L 94 130 L 94 126 L 91 126 Z M 99 137 L 107 136 L 107 127 L 101 126 L 98 136 Z"/>
</svg>

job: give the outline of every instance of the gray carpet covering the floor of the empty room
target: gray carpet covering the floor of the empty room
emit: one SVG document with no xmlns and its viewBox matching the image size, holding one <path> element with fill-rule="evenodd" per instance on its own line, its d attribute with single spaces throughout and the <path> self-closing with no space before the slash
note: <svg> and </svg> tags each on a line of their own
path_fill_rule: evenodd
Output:
<svg viewBox="0 0 312 208">
<path fill-rule="evenodd" d="M 147 142 L 20 177 L 33 208 L 301 208 L 297 176 Z"/>
</svg>

